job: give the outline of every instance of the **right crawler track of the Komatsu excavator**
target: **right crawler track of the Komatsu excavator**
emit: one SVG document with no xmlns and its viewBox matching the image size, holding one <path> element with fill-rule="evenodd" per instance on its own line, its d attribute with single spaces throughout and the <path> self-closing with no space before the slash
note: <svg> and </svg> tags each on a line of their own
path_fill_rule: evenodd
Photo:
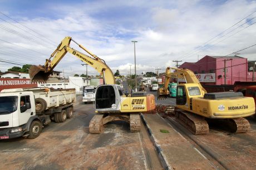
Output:
<svg viewBox="0 0 256 170">
<path fill-rule="evenodd" d="M 250 123 L 247 119 L 239 117 L 237 119 L 224 119 L 233 133 L 245 133 L 250 130 Z"/>
</svg>

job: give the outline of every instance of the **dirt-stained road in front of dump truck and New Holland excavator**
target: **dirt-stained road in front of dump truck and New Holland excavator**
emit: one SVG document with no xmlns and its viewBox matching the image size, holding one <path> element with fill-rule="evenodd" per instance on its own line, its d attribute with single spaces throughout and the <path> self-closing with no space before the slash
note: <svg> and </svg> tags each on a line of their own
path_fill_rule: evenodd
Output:
<svg viewBox="0 0 256 170">
<path fill-rule="evenodd" d="M 80 104 L 72 119 L 52 122 L 34 140 L 0 141 L 1 169 L 161 169 L 144 127 L 131 133 L 127 123 L 117 121 L 92 135 L 93 115 L 92 104 Z"/>
</svg>

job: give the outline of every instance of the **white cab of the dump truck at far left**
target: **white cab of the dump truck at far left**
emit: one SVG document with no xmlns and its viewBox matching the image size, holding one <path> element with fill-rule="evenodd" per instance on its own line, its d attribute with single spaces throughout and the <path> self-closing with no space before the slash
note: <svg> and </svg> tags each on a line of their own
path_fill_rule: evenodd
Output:
<svg viewBox="0 0 256 170">
<path fill-rule="evenodd" d="M 40 130 L 38 126 L 42 126 L 42 121 L 46 121 L 38 119 L 36 115 L 35 97 L 32 91 L 23 91 L 23 89 L 6 89 L 1 91 L 0 139 L 23 136 L 24 133 L 29 132 L 28 125 L 33 120 L 39 122 L 33 127 L 35 132 Z"/>
</svg>

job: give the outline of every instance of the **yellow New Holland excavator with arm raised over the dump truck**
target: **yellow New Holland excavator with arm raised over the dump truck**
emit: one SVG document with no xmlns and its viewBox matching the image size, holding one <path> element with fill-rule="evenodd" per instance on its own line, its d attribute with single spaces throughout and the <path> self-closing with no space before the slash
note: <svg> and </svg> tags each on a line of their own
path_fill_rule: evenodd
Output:
<svg viewBox="0 0 256 170">
<path fill-rule="evenodd" d="M 71 40 L 91 56 L 81 53 L 70 47 Z M 97 87 L 95 95 L 96 115 L 89 124 L 90 133 L 101 133 L 103 125 L 107 122 L 122 120 L 130 124 L 130 131 L 140 131 L 140 112 L 155 109 L 154 95 L 145 92 L 134 92 L 129 96 L 122 95 L 119 85 L 115 84 L 115 76 L 105 61 L 92 54 L 85 47 L 78 44 L 71 37 L 65 37 L 57 49 L 46 59 L 45 65 L 32 65 L 29 75 L 32 81 L 46 81 L 52 74 L 55 66 L 65 56 L 71 53 L 78 59 L 95 68 L 104 78 L 104 85 Z"/>
</svg>

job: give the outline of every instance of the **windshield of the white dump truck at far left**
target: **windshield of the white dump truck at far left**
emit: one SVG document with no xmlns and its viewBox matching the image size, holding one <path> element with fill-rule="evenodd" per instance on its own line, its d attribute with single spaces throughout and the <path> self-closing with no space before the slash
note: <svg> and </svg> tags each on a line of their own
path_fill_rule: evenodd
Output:
<svg viewBox="0 0 256 170">
<path fill-rule="evenodd" d="M 0 115 L 11 114 L 18 107 L 18 96 L 0 97 Z"/>
</svg>

